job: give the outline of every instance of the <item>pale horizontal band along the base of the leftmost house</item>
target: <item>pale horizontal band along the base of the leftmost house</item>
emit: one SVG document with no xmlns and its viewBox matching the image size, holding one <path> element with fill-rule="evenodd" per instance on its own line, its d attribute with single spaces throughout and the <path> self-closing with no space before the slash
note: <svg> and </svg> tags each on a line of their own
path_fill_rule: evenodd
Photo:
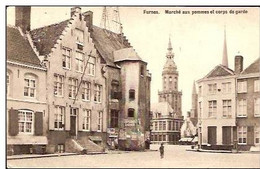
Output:
<svg viewBox="0 0 260 169">
<path fill-rule="evenodd" d="M 7 145 L 46 145 L 48 140 L 46 136 L 30 136 L 30 135 L 19 135 L 19 136 L 8 136 Z"/>
</svg>

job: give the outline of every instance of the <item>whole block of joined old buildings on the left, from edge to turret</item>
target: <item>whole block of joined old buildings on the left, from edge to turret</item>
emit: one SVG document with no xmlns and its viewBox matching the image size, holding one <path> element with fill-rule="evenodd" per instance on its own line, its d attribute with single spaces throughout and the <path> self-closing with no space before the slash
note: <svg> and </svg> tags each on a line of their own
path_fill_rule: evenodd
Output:
<svg viewBox="0 0 260 169">
<path fill-rule="evenodd" d="M 80 7 L 33 30 L 31 17 L 16 7 L 7 26 L 8 154 L 144 149 L 151 74 L 126 37 Z"/>
</svg>

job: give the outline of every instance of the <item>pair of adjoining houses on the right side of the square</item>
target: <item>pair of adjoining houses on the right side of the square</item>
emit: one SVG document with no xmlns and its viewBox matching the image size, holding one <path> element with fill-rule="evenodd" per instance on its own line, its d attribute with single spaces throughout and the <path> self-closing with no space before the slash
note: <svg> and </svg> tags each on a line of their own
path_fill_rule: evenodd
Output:
<svg viewBox="0 0 260 169">
<path fill-rule="evenodd" d="M 243 69 L 243 57 L 236 55 L 234 70 L 230 69 L 225 39 L 222 64 L 199 79 L 197 85 L 201 148 L 250 150 L 259 146 L 259 58 Z"/>
</svg>

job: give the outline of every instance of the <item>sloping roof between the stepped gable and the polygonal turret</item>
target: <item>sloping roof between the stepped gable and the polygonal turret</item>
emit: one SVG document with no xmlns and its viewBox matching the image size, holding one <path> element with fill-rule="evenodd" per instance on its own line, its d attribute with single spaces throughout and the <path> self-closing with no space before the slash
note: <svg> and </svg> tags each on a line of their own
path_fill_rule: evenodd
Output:
<svg viewBox="0 0 260 169">
<path fill-rule="evenodd" d="M 131 47 L 121 35 L 93 25 L 92 39 L 99 54 L 110 66 L 115 66 L 113 52 Z M 123 41 L 123 43 L 122 43 Z"/>
</svg>

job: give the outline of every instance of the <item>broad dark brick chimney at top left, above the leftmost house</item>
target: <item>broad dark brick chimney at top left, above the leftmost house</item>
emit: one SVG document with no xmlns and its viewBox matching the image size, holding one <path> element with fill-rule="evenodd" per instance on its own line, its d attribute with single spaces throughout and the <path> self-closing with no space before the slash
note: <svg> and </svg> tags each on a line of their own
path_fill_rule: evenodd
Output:
<svg viewBox="0 0 260 169">
<path fill-rule="evenodd" d="M 15 7 L 15 26 L 20 27 L 25 34 L 31 30 L 31 7 L 17 6 Z"/>
</svg>

